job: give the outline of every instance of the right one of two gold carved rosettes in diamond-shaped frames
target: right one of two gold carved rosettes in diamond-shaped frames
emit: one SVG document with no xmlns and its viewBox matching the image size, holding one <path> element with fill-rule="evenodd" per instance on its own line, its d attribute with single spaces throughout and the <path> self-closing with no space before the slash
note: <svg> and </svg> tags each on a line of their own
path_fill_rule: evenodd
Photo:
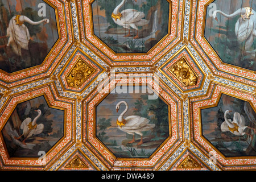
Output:
<svg viewBox="0 0 256 182">
<path fill-rule="evenodd" d="M 193 72 L 192 68 L 189 67 L 189 64 L 185 59 L 177 61 L 169 71 L 174 74 L 180 82 L 185 86 L 194 86 L 198 80 L 198 77 Z"/>
</svg>

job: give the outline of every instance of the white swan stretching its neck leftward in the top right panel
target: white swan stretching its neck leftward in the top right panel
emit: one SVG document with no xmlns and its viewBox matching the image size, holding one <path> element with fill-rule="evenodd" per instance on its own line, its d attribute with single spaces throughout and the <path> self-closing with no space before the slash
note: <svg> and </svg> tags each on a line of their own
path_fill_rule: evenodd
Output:
<svg viewBox="0 0 256 182">
<path fill-rule="evenodd" d="M 250 52 L 249 49 L 253 44 L 254 37 L 256 36 L 256 12 L 251 7 L 243 7 L 238 9 L 233 14 L 225 14 L 220 10 L 213 11 L 213 18 L 217 19 L 217 13 L 220 13 L 227 18 L 233 18 L 234 16 L 241 15 L 236 23 L 236 35 L 240 42 L 246 40 L 245 51 Z"/>
</svg>

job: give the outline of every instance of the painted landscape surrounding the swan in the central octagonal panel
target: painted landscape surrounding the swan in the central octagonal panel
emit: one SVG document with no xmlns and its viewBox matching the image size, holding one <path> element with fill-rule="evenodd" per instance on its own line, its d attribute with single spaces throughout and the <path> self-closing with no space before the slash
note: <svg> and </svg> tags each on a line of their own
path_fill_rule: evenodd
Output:
<svg viewBox="0 0 256 182">
<path fill-rule="evenodd" d="M 128 90 L 127 86 L 127 92 Z M 96 136 L 120 158 L 148 158 L 169 136 L 168 106 L 157 96 L 156 100 L 148 100 L 146 87 L 139 86 L 138 90 L 141 92 L 121 94 L 112 92 L 96 108 Z M 128 142 L 132 140 L 133 135 L 117 127 L 119 114 L 125 110 L 125 105 L 122 104 L 117 113 L 115 106 L 119 101 L 126 101 L 129 105 L 124 119 L 129 115 L 139 115 L 155 124 L 153 129 L 142 131 L 144 143 L 141 146 L 137 146 L 141 139 L 140 135 L 135 134 L 136 142 L 130 144 Z"/>
</svg>

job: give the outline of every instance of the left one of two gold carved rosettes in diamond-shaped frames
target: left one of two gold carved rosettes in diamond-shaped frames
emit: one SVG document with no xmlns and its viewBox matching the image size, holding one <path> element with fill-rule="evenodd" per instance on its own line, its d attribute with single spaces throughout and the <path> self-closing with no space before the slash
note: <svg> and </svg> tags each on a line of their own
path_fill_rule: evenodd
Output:
<svg viewBox="0 0 256 182">
<path fill-rule="evenodd" d="M 93 74 L 95 69 L 90 67 L 84 61 L 79 60 L 75 67 L 71 70 L 71 72 L 66 77 L 68 86 L 71 87 L 79 87 L 85 80 Z"/>
</svg>

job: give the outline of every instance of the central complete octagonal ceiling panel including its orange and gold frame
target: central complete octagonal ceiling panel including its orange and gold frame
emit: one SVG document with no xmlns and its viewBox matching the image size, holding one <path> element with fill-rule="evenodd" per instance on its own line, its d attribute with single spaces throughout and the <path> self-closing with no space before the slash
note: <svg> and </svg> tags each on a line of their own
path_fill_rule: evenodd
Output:
<svg viewBox="0 0 256 182">
<path fill-rule="evenodd" d="M 134 74 L 133 78 L 128 78 L 127 76 L 128 75 L 119 74 L 115 79 L 109 77 L 110 80 L 106 79 L 98 85 L 98 92 L 96 91 L 98 94 L 96 97 L 88 97 L 83 101 L 83 132 L 87 133 L 87 135 L 84 135 L 82 140 L 86 146 L 90 146 L 90 148 L 92 148 L 91 146 L 93 146 L 93 148 L 95 147 L 96 151 L 94 150 L 94 152 L 97 152 L 99 156 L 103 155 L 104 158 L 108 160 L 107 163 L 110 163 L 112 166 L 125 167 L 130 166 L 131 163 L 141 163 L 144 167 L 148 167 L 154 166 L 155 162 L 160 160 L 158 165 L 156 165 L 156 168 L 159 168 L 160 163 L 162 163 L 164 159 L 167 158 L 167 155 L 174 151 L 181 142 L 179 140 L 179 138 L 182 137 L 179 130 L 181 126 L 181 110 L 177 109 L 177 107 L 180 106 L 176 105 L 179 104 L 180 101 L 174 95 L 171 97 L 168 96 L 165 92 L 168 88 L 160 83 L 160 85 L 158 85 L 156 77 L 150 74 L 143 74 L 143 76 Z M 148 96 L 148 94 L 145 93 L 146 90 L 137 90 L 138 94 L 130 95 L 126 93 L 127 91 L 129 92 L 129 90 L 125 88 L 125 85 L 129 84 L 129 80 L 131 79 L 134 80 L 134 83 L 133 86 L 129 87 L 130 92 L 135 93 L 134 86 L 139 86 L 144 83 L 144 86 L 148 86 L 155 94 L 152 95 L 152 92 L 150 92 L 151 94 Z M 117 98 L 112 98 L 114 96 L 114 94 L 111 93 L 113 89 L 115 89 L 115 92 L 125 92 L 122 94 L 123 97 L 118 96 Z M 131 91 L 132 89 L 134 90 Z M 139 94 L 139 92 L 141 92 L 141 94 Z M 141 96 L 142 98 L 148 97 L 154 99 L 154 101 L 139 100 L 139 95 L 143 95 Z M 112 98 L 111 100 L 108 99 L 109 96 Z M 158 97 L 161 100 L 159 100 Z M 106 98 L 107 100 L 105 100 Z M 134 101 L 134 103 L 130 102 L 129 99 L 130 101 Z M 127 103 L 128 108 L 124 107 L 122 104 L 118 109 L 116 105 L 118 101 L 121 100 Z M 151 102 L 161 102 L 162 104 L 152 104 Z M 106 108 L 106 103 L 112 104 L 110 104 L 110 107 Z M 150 103 L 152 104 L 151 106 Z M 158 113 L 156 113 L 153 107 L 157 108 L 158 106 L 162 107 L 162 111 L 159 110 Z M 168 114 L 166 113 L 166 106 L 168 106 L 168 110 L 171 110 Z M 141 131 L 128 131 L 129 127 L 125 126 L 131 125 L 128 123 L 129 119 L 127 118 L 126 122 L 124 120 L 122 122 L 119 121 L 122 119 L 119 117 L 120 114 L 114 114 L 116 108 L 118 111 L 120 110 L 119 113 L 121 113 L 121 110 L 123 113 L 123 109 L 126 111 L 127 108 L 127 112 L 139 115 L 139 117 L 147 117 L 150 121 L 143 119 L 147 126 L 140 127 Z M 150 109 L 153 110 L 150 111 Z M 102 113 L 108 113 L 108 115 Z M 160 113 L 164 115 L 163 121 L 158 120 L 158 114 Z M 86 120 L 86 115 L 89 116 L 88 121 Z M 126 119 L 126 117 L 124 118 Z M 166 121 L 167 119 L 168 121 Z M 158 134 L 154 134 L 156 131 L 158 131 Z M 129 133 L 129 135 L 126 137 L 125 133 Z M 135 138 L 133 141 L 134 133 Z M 166 150 L 168 150 L 168 154 L 163 153 Z M 165 156 L 163 157 L 163 155 Z M 126 161 L 124 158 L 129 159 L 129 161 Z"/>
</svg>

